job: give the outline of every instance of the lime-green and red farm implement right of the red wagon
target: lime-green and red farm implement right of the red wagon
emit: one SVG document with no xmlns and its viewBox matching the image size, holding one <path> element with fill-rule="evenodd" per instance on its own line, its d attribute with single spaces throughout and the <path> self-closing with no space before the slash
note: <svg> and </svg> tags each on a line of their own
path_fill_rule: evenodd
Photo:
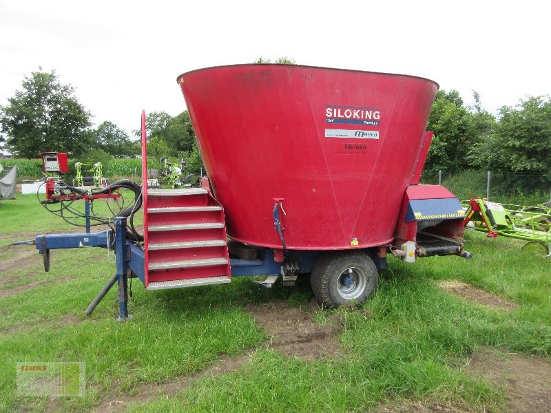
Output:
<svg viewBox="0 0 551 413">
<path fill-rule="evenodd" d="M 551 256 L 551 201 L 527 207 L 471 198 L 461 204 L 467 209 L 464 226 L 486 232 L 490 238 L 502 235 L 527 241 L 523 251 Z"/>
</svg>

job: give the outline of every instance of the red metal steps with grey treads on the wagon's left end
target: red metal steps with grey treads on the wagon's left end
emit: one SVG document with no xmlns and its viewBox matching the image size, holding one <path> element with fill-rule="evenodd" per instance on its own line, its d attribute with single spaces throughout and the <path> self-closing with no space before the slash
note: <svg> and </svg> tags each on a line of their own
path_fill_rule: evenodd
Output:
<svg viewBox="0 0 551 413">
<path fill-rule="evenodd" d="M 231 281 L 222 206 L 206 189 L 147 193 L 147 290 Z"/>
</svg>

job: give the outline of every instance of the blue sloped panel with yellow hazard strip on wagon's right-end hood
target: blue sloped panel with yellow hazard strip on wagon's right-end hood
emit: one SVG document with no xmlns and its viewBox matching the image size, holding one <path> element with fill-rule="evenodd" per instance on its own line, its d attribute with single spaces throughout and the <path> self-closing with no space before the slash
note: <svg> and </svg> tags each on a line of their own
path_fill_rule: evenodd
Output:
<svg viewBox="0 0 551 413">
<path fill-rule="evenodd" d="M 410 200 L 406 211 L 406 222 L 457 218 L 465 218 L 465 211 L 457 198 Z"/>
</svg>

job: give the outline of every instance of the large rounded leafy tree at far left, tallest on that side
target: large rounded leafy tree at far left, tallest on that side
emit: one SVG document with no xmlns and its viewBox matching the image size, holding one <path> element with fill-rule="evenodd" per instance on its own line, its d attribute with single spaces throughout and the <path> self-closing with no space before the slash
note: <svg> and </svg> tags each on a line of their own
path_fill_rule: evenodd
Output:
<svg viewBox="0 0 551 413">
<path fill-rule="evenodd" d="M 40 68 L 23 80 L 8 105 L 0 107 L 2 131 L 8 144 L 25 158 L 41 151 L 78 153 L 90 145 L 90 112 L 74 96 L 71 85 L 62 85 L 54 71 Z"/>
</svg>

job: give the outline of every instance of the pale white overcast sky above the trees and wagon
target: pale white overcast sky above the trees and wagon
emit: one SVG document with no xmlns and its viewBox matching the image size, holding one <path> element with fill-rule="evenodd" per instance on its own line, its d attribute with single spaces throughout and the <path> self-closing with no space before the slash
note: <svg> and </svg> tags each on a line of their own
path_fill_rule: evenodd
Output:
<svg viewBox="0 0 551 413">
<path fill-rule="evenodd" d="M 424 76 L 497 113 L 551 94 L 547 1 L 0 0 L 0 105 L 56 70 L 98 125 L 185 109 L 176 77 L 289 56 L 298 64 Z"/>
</svg>

